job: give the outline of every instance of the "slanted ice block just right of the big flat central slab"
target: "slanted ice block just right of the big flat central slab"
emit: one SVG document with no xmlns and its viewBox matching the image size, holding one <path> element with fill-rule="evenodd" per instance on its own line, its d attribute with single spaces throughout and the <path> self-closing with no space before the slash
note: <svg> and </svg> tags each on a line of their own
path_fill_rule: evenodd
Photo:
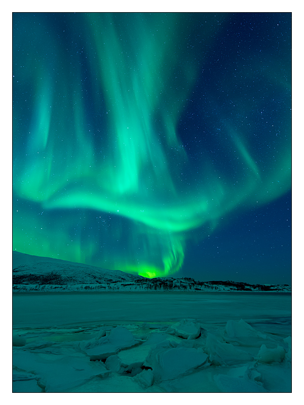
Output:
<svg viewBox="0 0 304 405">
<path fill-rule="evenodd" d="M 206 339 L 205 352 L 215 365 L 236 365 L 253 360 L 253 356 L 230 343 L 220 342 L 209 333 Z"/>
</svg>

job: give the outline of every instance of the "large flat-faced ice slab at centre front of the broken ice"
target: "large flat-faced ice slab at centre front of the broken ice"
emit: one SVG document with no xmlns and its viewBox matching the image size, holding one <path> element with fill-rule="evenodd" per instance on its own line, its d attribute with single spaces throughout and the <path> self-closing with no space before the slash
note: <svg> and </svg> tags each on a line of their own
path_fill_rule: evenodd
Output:
<svg viewBox="0 0 304 405">
<path fill-rule="evenodd" d="M 165 341 L 150 351 L 146 361 L 159 381 L 171 380 L 202 365 L 207 366 L 207 359 L 202 349 L 177 347 L 174 342 Z"/>
</svg>

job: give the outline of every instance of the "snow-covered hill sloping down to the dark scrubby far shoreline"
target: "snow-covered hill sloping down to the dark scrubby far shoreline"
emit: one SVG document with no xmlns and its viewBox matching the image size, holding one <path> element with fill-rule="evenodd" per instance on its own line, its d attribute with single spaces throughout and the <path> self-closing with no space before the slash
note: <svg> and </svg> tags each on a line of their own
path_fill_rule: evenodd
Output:
<svg viewBox="0 0 304 405">
<path fill-rule="evenodd" d="M 64 291 L 269 291 L 291 292 L 288 285 L 249 285 L 193 278 L 145 278 L 60 259 L 13 252 L 14 292 Z"/>
</svg>

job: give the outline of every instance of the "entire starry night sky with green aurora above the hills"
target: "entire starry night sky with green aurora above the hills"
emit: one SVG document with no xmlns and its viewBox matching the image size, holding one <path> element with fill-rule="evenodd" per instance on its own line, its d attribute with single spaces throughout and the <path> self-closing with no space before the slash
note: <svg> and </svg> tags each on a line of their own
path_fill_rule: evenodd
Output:
<svg viewBox="0 0 304 405">
<path fill-rule="evenodd" d="M 13 250 L 291 284 L 291 13 L 13 13 Z"/>
</svg>

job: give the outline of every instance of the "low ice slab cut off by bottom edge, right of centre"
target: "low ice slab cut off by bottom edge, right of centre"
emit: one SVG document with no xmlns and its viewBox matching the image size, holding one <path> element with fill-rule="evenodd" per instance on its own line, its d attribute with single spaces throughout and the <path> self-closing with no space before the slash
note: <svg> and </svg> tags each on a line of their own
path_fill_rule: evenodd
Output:
<svg viewBox="0 0 304 405">
<path fill-rule="evenodd" d="M 268 392 L 261 384 L 244 377 L 218 374 L 214 377 L 214 381 L 221 392 Z"/>
</svg>

